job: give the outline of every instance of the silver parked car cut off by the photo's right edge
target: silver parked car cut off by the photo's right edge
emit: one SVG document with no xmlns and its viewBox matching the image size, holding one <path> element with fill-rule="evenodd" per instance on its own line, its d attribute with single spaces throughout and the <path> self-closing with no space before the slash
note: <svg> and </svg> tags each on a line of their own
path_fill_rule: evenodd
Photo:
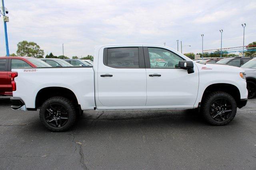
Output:
<svg viewBox="0 0 256 170">
<path fill-rule="evenodd" d="M 256 58 L 243 64 L 241 68 L 246 73 L 248 98 L 254 98 L 256 96 Z"/>
</svg>

